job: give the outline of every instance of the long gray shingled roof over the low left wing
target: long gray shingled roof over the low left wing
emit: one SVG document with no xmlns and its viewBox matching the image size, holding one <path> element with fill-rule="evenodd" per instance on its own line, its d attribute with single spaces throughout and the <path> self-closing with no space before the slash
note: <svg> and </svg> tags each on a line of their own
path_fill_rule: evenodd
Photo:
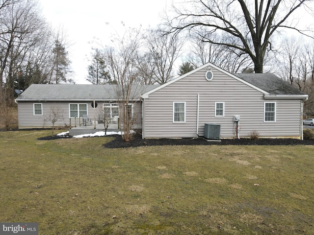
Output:
<svg viewBox="0 0 314 235">
<path fill-rule="evenodd" d="M 158 85 L 132 85 L 131 99 L 138 99 Z M 119 85 L 32 84 L 17 101 L 118 100 Z"/>
</svg>

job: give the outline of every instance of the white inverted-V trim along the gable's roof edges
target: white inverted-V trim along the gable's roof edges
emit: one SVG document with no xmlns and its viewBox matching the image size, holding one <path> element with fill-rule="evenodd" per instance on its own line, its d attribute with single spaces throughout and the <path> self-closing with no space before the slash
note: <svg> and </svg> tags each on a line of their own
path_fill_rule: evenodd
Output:
<svg viewBox="0 0 314 235">
<path fill-rule="evenodd" d="M 266 91 L 264 91 L 264 90 L 262 90 L 262 89 L 260 89 L 260 88 L 258 88 L 258 87 L 256 87 L 256 86 L 252 85 L 251 83 L 248 83 L 248 82 L 246 82 L 246 81 L 244 81 L 244 80 L 238 78 L 238 77 L 235 76 L 234 74 L 232 74 L 232 73 L 230 73 L 230 72 L 227 72 L 227 71 L 224 71 L 223 69 L 221 69 L 221 68 L 219 68 L 219 67 L 217 67 L 217 66 L 215 66 L 215 65 L 213 65 L 213 64 L 211 64 L 211 63 L 207 63 L 207 64 L 205 64 L 205 65 L 203 65 L 203 66 L 201 66 L 201 67 L 199 67 L 199 68 L 197 68 L 197 69 L 195 69 L 195 70 L 189 71 L 188 73 L 185 73 L 185 74 L 183 74 L 183 75 L 180 76 L 180 77 L 177 77 L 176 79 L 173 79 L 173 80 L 171 80 L 171 81 L 169 81 L 169 82 L 167 82 L 167 83 L 165 83 L 165 84 L 162 84 L 162 85 L 160 85 L 159 87 L 157 87 L 157 88 L 155 88 L 155 89 L 153 89 L 153 90 L 151 90 L 151 91 L 149 91 L 149 92 L 147 92 L 147 93 L 142 94 L 141 97 L 144 98 L 144 99 L 148 99 L 150 94 L 152 94 L 152 93 L 154 93 L 154 92 L 156 92 L 156 91 L 158 91 L 158 90 L 160 90 L 160 89 L 162 89 L 162 88 L 164 88 L 164 87 L 166 87 L 166 86 L 168 86 L 168 85 L 170 85 L 170 84 L 172 84 L 172 83 L 174 83 L 174 82 L 176 82 L 176 81 L 179 81 L 179 80 L 181 80 L 182 78 L 184 78 L 184 77 L 186 77 L 186 76 L 189 76 L 190 74 L 192 74 L 192 73 L 194 73 L 194 72 L 197 72 L 197 71 L 199 71 L 199 70 L 202 70 L 202 69 L 204 69 L 204 68 L 206 68 L 206 67 L 211 67 L 211 68 L 213 68 L 213 69 L 216 69 L 216 70 L 218 70 L 218 71 L 221 71 L 221 72 L 225 73 L 226 75 L 228 75 L 228 76 L 234 78 L 235 80 L 238 80 L 239 82 L 242 82 L 242 83 L 244 83 L 245 85 L 248 85 L 249 87 L 252 87 L 253 89 L 255 89 L 255 90 L 261 92 L 262 94 L 266 94 L 266 95 L 269 94 L 268 92 L 266 92 Z"/>
</svg>

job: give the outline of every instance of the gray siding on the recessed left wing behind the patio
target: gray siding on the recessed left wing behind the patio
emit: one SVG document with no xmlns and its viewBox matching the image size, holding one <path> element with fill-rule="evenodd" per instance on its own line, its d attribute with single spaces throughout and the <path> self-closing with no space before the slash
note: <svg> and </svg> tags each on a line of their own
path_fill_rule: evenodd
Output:
<svg viewBox="0 0 314 235">
<path fill-rule="evenodd" d="M 43 115 L 34 115 L 33 104 L 42 104 Z M 50 128 L 52 123 L 49 120 L 51 113 L 51 107 L 60 107 L 63 110 L 63 117 L 60 118 L 54 125 L 55 126 L 69 126 L 69 104 L 87 104 L 88 118 L 94 119 L 94 108 L 91 106 L 92 101 L 18 101 L 18 120 L 19 128 Z M 103 110 L 103 103 L 98 102 L 98 106 L 95 109 L 96 120 L 99 119 Z M 133 104 L 134 113 L 138 117 L 135 128 L 141 128 L 142 122 L 142 109 L 139 102 Z M 71 118 L 71 125 L 75 126 L 75 118 Z M 79 125 L 79 119 L 77 118 L 77 125 Z"/>
</svg>

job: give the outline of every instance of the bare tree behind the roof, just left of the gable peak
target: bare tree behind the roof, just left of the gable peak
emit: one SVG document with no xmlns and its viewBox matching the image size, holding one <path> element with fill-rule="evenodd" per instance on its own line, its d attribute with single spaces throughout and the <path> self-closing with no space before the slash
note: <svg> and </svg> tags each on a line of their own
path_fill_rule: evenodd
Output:
<svg viewBox="0 0 314 235">
<path fill-rule="evenodd" d="M 154 79 L 158 84 L 164 84 L 174 77 L 172 69 L 183 47 L 183 40 L 177 35 L 164 32 L 161 28 L 151 29 L 145 37 L 151 55 L 150 66 L 154 68 Z"/>
</svg>

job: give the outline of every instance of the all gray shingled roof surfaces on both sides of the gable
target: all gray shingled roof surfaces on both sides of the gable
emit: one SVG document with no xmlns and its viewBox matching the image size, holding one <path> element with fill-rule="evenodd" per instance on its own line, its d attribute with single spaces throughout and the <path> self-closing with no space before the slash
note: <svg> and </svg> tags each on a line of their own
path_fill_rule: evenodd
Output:
<svg viewBox="0 0 314 235">
<path fill-rule="evenodd" d="M 268 73 L 235 73 L 234 76 L 270 95 L 306 95 L 281 78 Z M 119 99 L 120 85 L 32 84 L 17 101 L 92 101 Z M 133 85 L 131 99 L 138 99 L 159 85 Z M 161 86 L 160 86 L 161 87 Z"/>
</svg>

